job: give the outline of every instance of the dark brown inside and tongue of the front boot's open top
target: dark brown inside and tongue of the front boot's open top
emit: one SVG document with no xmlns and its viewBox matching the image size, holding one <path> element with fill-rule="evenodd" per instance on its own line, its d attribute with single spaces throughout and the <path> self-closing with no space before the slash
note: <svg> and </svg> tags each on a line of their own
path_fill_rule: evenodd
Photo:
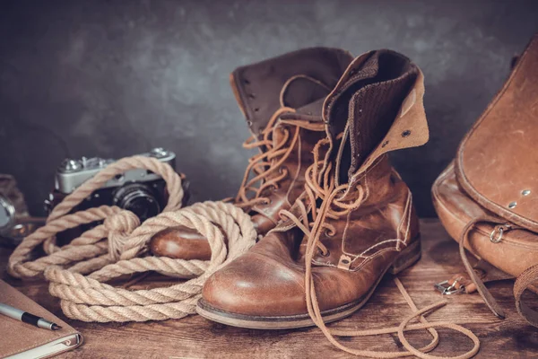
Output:
<svg viewBox="0 0 538 359">
<path fill-rule="evenodd" d="M 360 66 L 357 67 L 356 63 Z M 407 57 L 394 51 L 380 50 L 367 54 L 367 58 L 353 61 L 344 73 L 345 81 L 339 83 L 325 101 L 328 118 L 349 118 L 351 140 L 350 177 L 355 173 L 366 155 L 372 152 L 395 119 L 404 98 L 401 94 L 409 89 L 418 75 L 418 68 L 412 66 Z M 395 101 L 377 101 L 377 97 Z M 369 121 L 377 118 L 377 121 Z M 329 126 L 336 133 L 343 131 L 338 121 Z"/>
</svg>

